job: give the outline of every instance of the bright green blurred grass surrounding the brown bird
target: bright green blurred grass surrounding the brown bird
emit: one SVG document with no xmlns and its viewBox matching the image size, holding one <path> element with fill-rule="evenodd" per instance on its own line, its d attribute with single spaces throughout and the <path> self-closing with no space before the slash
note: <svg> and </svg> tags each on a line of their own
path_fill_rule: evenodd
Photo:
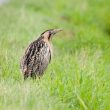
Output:
<svg viewBox="0 0 110 110">
<path fill-rule="evenodd" d="M 0 6 L 0 110 L 110 110 L 110 0 L 12 0 Z M 51 64 L 23 81 L 26 46 L 50 28 Z"/>
</svg>

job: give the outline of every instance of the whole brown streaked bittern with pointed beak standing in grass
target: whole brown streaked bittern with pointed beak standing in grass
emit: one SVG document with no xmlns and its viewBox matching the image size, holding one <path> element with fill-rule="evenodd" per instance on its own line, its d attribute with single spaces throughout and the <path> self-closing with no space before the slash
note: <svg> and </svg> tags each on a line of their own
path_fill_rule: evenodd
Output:
<svg viewBox="0 0 110 110">
<path fill-rule="evenodd" d="M 29 44 L 20 61 L 24 80 L 31 77 L 40 79 L 48 67 L 52 57 L 52 38 L 62 29 L 49 29 L 41 33 L 40 37 Z"/>
</svg>

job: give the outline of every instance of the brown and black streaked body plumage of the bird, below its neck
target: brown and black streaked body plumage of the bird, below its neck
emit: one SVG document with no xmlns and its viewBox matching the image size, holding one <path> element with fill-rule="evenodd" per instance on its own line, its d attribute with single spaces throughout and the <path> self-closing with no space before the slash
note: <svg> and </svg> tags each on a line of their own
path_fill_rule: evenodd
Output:
<svg viewBox="0 0 110 110">
<path fill-rule="evenodd" d="M 21 70 L 24 79 L 30 77 L 36 78 L 43 75 L 51 60 L 51 51 L 43 39 L 32 42 L 25 51 L 21 60 Z"/>
</svg>

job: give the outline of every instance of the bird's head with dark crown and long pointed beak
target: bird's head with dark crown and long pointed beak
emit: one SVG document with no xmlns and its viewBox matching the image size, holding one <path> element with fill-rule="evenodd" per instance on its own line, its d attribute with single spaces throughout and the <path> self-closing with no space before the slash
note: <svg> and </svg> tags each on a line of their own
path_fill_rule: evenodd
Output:
<svg viewBox="0 0 110 110">
<path fill-rule="evenodd" d="M 50 29 L 50 30 L 46 30 L 44 31 L 41 36 L 44 37 L 47 40 L 50 40 L 52 38 L 52 36 L 54 36 L 56 33 L 62 31 L 62 29 Z"/>
</svg>

